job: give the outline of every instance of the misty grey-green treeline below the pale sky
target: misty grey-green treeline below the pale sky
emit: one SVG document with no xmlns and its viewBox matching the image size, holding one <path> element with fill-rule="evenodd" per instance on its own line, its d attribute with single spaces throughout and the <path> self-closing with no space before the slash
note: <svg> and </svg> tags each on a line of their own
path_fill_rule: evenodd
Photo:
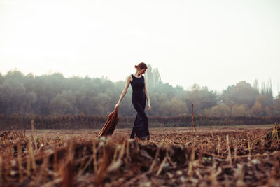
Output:
<svg viewBox="0 0 280 187">
<path fill-rule="evenodd" d="M 125 76 L 125 75 L 124 75 Z M 128 75 L 127 75 L 128 76 Z M 160 72 L 148 65 L 145 74 L 152 110 L 148 116 L 280 116 L 280 97 L 273 97 L 272 83 L 253 85 L 241 81 L 217 92 L 194 84 L 189 90 L 162 83 Z M 34 76 L 14 69 L 0 74 L 0 113 L 2 115 L 58 116 L 82 114 L 107 116 L 118 102 L 125 81 L 108 78 L 65 78 L 60 73 Z M 135 116 L 132 88 L 119 108 L 120 116 Z"/>
</svg>

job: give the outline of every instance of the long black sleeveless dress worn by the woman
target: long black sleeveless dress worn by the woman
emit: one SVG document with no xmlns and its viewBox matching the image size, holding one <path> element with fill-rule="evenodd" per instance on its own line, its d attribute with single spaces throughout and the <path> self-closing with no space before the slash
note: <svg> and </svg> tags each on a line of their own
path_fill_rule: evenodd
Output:
<svg viewBox="0 0 280 187">
<path fill-rule="evenodd" d="M 130 138 L 136 135 L 139 139 L 150 139 L 148 130 L 148 117 L 145 113 L 146 95 L 144 92 L 145 81 L 144 76 L 136 77 L 132 74 L 132 104 L 137 111 Z"/>
</svg>

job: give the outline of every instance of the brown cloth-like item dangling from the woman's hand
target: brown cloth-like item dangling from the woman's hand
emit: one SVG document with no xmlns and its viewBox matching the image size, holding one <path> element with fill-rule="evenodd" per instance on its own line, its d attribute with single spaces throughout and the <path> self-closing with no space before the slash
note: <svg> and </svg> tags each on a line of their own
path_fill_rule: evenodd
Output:
<svg viewBox="0 0 280 187">
<path fill-rule="evenodd" d="M 99 132 L 98 137 L 111 135 L 113 134 L 114 130 L 116 129 L 116 126 L 118 124 L 118 109 L 115 109 L 113 112 L 111 112 L 107 118 L 107 121 L 102 128 L 102 130 Z"/>
</svg>

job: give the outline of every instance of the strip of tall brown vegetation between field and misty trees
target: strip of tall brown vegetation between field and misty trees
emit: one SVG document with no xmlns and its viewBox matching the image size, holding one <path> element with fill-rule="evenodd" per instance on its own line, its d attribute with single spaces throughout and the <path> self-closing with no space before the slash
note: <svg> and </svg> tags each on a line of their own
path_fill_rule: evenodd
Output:
<svg viewBox="0 0 280 187">
<path fill-rule="evenodd" d="M 192 115 L 185 116 L 149 116 L 150 127 L 190 127 L 193 123 Z M 0 130 L 9 130 L 10 125 L 18 129 L 30 129 L 30 121 L 34 120 L 36 129 L 101 129 L 107 120 L 106 116 L 85 116 L 85 115 L 60 115 L 60 116 L 7 116 L 0 114 Z M 120 116 L 118 128 L 130 128 L 134 123 L 135 116 Z M 266 125 L 280 121 L 280 117 L 254 117 L 254 116 L 195 116 L 196 127 L 212 125 Z"/>
</svg>

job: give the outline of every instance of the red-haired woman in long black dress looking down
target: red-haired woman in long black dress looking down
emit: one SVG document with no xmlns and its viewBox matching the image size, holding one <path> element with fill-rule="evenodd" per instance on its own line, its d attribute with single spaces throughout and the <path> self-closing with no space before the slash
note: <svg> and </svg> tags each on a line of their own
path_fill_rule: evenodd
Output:
<svg viewBox="0 0 280 187">
<path fill-rule="evenodd" d="M 145 113 L 146 99 L 148 102 L 148 111 L 151 110 L 151 104 L 150 97 L 148 95 L 148 90 L 146 87 L 146 79 L 143 75 L 145 74 L 146 69 L 148 67 L 145 63 L 141 62 L 140 64 L 136 65 L 135 68 L 137 69 L 137 71 L 135 74 L 131 74 L 130 76 L 128 76 L 125 89 L 120 95 L 120 99 L 118 100 L 115 109 L 117 109 L 120 106 L 120 102 L 123 100 L 123 97 L 125 97 L 127 89 L 131 83 L 132 104 L 134 106 L 134 109 L 137 111 L 137 116 L 134 121 L 134 126 L 132 128 L 130 138 L 133 139 L 134 135 L 136 134 L 136 136 L 141 140 L 150 139 L 150 132 L 148 130 L 148 117 Z"/>
</svg>

